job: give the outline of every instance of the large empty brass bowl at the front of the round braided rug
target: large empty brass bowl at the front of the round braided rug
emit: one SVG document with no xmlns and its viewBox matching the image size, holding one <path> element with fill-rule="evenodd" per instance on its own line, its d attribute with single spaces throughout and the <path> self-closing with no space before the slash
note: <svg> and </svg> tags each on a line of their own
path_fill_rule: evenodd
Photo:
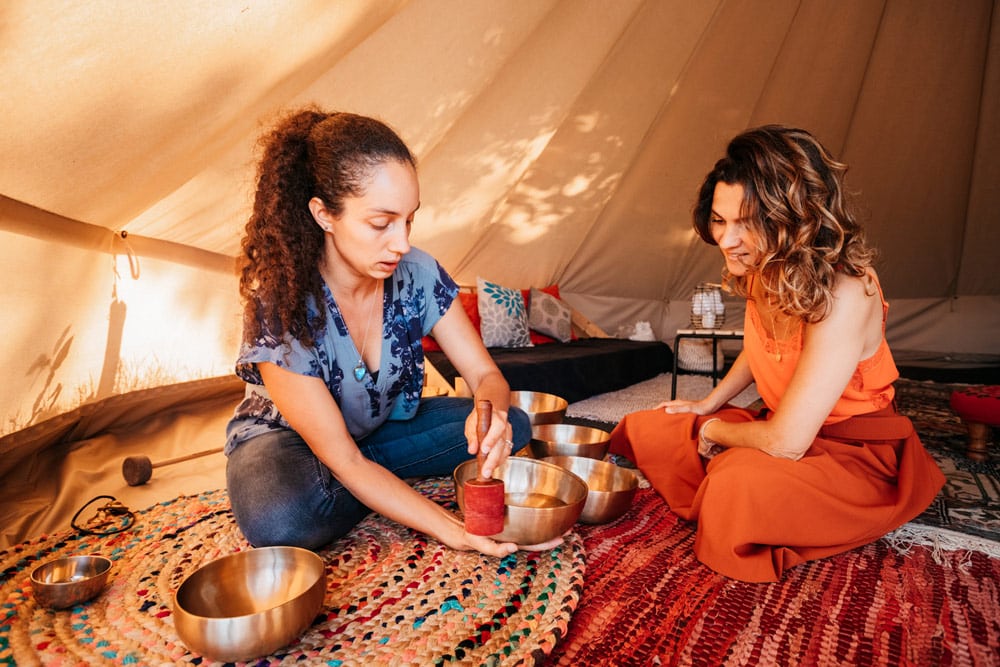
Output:
<svg viewBox="0 0 1000 667">
<path fill-rule="evenodd" d="M 174 594 L 174 627 L 191 651 L 220 662 L 270 655 L 323 608 L 326 566 L 312 551 L 261 547 L 211 561 Z"/>
</svg>

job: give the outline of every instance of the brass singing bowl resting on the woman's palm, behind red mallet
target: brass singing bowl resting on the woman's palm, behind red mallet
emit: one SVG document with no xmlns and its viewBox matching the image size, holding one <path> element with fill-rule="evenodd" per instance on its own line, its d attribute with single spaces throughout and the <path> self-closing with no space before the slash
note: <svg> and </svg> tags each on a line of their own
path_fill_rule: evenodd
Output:
<svg viewBox="0 0 1000 667">
<path fill-rule="evenodd" d="M 465 511 L 463 486 L 476 476 L 475 459 L 455 468 L 455 496 Z M 587 502 L 587 485 L 559 466 L 526 457 L 510 457 L 493 473 L 503 480 L 503 531 L 498 542 L 533 545 L 559 537 L 573 527 Z"/>
</svg>

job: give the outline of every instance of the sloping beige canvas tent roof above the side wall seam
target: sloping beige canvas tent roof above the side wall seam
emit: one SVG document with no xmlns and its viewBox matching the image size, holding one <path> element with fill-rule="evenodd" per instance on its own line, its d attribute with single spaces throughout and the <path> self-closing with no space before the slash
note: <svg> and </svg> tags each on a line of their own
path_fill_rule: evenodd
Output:
<svg viewBox="0 0 1000 667">
<path fill-rule="evenodd" d="M 464 279 L 527 271 L 669 298 L 692 272 L 717 270 L 688 229 L 698 179 L 733 133 L 778 121 L 852 164 L 895 293 L 995 294 L 996 279 L 973 268 L 982 242 L 1000 240 L 984 204 L 1000 180 L 994 10 L 7 3 L 0 193 L 235 255 L 261 124 L 317 102 L 378 115 L 413 145 L 425 206 L 415 240 Z M 634 261 L 612 271 L 622 256 Z"/>
</svg>

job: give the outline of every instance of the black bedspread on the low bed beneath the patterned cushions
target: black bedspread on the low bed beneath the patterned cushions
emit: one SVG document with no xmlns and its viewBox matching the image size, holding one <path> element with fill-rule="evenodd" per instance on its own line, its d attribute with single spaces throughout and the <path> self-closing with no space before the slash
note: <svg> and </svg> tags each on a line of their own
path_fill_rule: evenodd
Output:
<svg viewBox="0 0 1000 667">
<path fill-rule="evenodd" d="M 555 394 L 570 403 L 669 373 L 674 359 L 666 343 L 617 338 L 491 348 L 490 355 L 512 390 Z M 455 384 L 458 373 L 443 352 L 428 352 L 426 357 L 448 382 Z"/>
</svg>

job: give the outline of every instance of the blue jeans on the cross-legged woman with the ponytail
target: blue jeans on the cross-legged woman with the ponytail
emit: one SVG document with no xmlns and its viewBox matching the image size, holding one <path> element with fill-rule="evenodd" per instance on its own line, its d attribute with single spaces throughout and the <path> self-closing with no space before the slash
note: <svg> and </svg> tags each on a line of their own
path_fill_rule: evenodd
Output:
<svg viewBox="0 0 1000 667">
<path fill-rule="evenodd" d="M 469 398 L 426 398 L 413 419 L 386 422 L 358 447 L 398 477 L 451 475 L 470 458 L 465 420 L 472 409 Z M 517 451 L 531 439 L 531 424 L 513 406 L 507 420 Z M 236 523 L 256 547 L 318 549 L 371 513 L 292 430 L 238 445 L 226 462 L 226 484 Z"/>
</svg>

